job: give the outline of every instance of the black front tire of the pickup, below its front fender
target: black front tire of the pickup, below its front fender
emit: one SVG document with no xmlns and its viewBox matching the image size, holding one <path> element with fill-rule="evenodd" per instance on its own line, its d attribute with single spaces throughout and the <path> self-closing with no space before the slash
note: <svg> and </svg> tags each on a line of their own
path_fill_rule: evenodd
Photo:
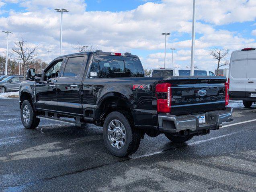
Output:
<svg viewBox="0 0 256 192">
<path fill-rule="evenodd" d="M 29 120 L 23 117 L 23 110 L 29 110 Z M 23 126 L 27 129 L 35 129 L 40 122 L 40 119 L 36 117 L 35 111 L 32 107 L 32 104 L 28 101 L 25 100 L 23 101 L 21 108 L 20 108 L 20 118 L 21 118 L 21 122 L 23 124 Z"/>
</svg>

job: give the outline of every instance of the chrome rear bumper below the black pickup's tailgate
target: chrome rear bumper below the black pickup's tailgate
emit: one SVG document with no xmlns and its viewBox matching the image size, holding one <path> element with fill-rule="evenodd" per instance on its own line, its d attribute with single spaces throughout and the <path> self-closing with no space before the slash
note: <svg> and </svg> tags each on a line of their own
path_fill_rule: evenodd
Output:
<svg viewBox="0 0 256 192">
<path fill-rule="evenodd" d="M 177 133 L 182 130 L 204 130 L 217 129 L 223 122 L 232 121 L 233 109 L 227 107 L 225 110 L 217 110 L 205 112 L 196 115 L 158 115 L 158 129 L 166 133 Z M 206 123 L 199 125 L 199 120 L 196 116 L 205 115 Z"/>
</svg>

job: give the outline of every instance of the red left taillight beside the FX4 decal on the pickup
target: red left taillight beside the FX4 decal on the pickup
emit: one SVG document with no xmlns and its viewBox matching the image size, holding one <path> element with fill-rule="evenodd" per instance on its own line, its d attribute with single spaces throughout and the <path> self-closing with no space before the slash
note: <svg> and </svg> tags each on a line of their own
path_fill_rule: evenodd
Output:
<svg viewBox="0 0 256 192">
<path fill-rule="evenodd" d="M 172 84 L 159 83 L 156 85 L 157 112 L 170 113 L 172 106 Z"/>
</svg>

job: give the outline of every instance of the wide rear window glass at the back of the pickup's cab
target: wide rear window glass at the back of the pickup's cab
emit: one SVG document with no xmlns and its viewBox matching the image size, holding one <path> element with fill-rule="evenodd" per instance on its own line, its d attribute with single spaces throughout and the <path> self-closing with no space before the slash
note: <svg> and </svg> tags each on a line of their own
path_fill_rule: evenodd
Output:
<svg viewBox="0 0 256 192">
<path fill-rule="evenodd" d="M 138 58 L 126 56 L 95 55 L 89 78 L 143 77 Z"/>
</svg>

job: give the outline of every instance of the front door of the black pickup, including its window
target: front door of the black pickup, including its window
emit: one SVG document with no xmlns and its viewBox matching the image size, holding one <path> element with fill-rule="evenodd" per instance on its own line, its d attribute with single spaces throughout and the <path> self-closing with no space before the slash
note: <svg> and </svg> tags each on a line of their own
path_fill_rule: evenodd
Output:
<svg viewBox="0 0 256 192">
<path fill-rule="evenodd" d="M 41 81 L 35 84 L 36 108 L 57 111 L 56 88 L 63 58 L 53 61 L 43 72 Z"/>
</svg>

